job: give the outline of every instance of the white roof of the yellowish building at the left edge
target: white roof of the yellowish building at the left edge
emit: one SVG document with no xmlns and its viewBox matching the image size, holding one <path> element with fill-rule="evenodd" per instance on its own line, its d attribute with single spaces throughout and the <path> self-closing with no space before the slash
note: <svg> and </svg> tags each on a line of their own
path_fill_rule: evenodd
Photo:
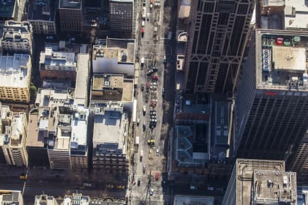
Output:
<svg viewBox="0 0 308 205">
<path fill-rule="evenodd" d="M 29 55 L 0 55 L 0 86 L 28 87 L 31 73 L 30 65 Z"/>
</svg>

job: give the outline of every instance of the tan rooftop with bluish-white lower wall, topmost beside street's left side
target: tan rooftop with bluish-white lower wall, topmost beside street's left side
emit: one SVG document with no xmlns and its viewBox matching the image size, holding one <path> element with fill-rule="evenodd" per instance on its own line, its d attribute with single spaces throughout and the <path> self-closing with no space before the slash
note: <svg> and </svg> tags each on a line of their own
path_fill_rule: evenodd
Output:
<svg viewBox="0 0 308 205">
<path fill-rule="evenodd" d="M 105 45 L 97 44 L 93 46 L 93 72 L 125 74 L 133 77 L 134 55 L 134 40 L 107 38 Z"/>
</svg>

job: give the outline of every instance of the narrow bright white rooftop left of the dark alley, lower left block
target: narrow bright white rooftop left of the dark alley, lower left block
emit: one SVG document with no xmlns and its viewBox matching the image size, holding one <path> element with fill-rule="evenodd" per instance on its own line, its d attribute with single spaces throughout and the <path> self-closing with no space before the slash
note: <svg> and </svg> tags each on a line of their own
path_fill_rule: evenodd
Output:
<svg viewBox="0 0 308 205">
<path fill-rule="evenodd" d="M 88 127 L 89 110 L 84 107 L 77 107 L 77 112 L 73 114 L 72 134 L 70 137 L 70 147 L 86 146 L 87 144 L 87 127 Z"/>
</svg>

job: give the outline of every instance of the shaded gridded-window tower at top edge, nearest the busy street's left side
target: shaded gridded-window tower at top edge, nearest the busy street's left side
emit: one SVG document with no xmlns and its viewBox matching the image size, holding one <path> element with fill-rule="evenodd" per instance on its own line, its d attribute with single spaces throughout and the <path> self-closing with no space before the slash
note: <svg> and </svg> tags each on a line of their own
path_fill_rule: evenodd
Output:
<svg viewBox="0 0 308 205">
<path fill-rule="evenodd" d="M 110 0 L 110 31 L 116 36 L 131 38 L 133 31 L 133 0 Z"/>
</svg>

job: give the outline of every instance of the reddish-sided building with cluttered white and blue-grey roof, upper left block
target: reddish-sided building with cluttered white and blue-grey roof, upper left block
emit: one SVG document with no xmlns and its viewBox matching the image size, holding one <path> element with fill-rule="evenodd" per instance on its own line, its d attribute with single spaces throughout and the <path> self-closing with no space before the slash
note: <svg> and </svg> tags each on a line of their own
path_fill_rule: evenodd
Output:
<svg viewBox="0 0 308 205">
<path fill-rule="evenodd" d="M 53 51 L 46 47 L 40 53 L 40 77 L 76 80 L 77 62 L 74 52 Z"/>
</svg>

